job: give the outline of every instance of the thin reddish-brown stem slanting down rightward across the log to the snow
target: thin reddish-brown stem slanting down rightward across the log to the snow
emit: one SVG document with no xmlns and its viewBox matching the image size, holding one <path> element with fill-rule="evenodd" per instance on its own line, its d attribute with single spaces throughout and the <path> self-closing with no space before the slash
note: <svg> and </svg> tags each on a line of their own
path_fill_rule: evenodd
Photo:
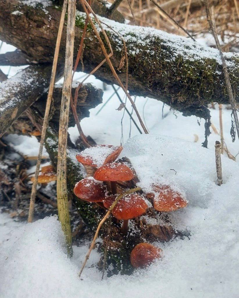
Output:
<svg viewBox="0 0 239 298">
<path fill-rule="evenodd" d="M 114 75 L 115 79 L 117 80 L 119 86 L 124 90 L 126 96 L 127 96 L 128 99 L 130 100 L 131 105 L 132 105 L 132 107 L 134 108 L 134 111 L 135 111 L 135 113 L 136 113 L 136 115 L 137 115 L 137 117 L 138 117 L 138 119 L 139 119 L 139 121 L 140 121 L 140 125 L 141 125 L 142 128 L 143 128 L 143 131 L 145 132 L 145 134 L 148 134 L 148 131 L 147 131 L 147 129 L 146 129 L 146 127 L 145 127 L 145 125 L 144 125 L 144 123 L 143 123 L 141 117 L 140 117 L 140 114 L 139 114 L 139 112 L 138 112 L 138 110 L 137 110 L 137 108 L 136 108 L 136 105 L 135 105 L 134 101 L 132 100 L 131 96 L 129 95 L 127 89 L 125 89 L 125 86 L 122 84 L 121 80 L 119 79 L 119 77 L 118 77 L 118 75 L 117 75 L 117 73 L 116 73 L 116 71 L 115 71 L 115 69 L 114 69 L 114 66 L 113 66 L 113 64 L 111 63 L 111 60 L 110 60 L 110 58 L 108 57 L 108 54 L 107 54 L 107 52 L 106 52 L 105 46 L 104 46 L 104 44 L 103 44 L 103 41 L 102 41 L 102 39 L 101 39 L 101 37 L 100 37 L 100 35 L 99 35 L 99 32 L 97 31 L 97 29 L 96 29 L 96 27 L 95 27 L 95 25 L 94 25 L 94 23 L 93 23 L 93 21 L 92 21 L 90 15 L 89 15 L 89 13 L 88 13 L 87 8 L 91 11 L 91 13 L 94 15 L 95 20 L 96 20 L 97 23 L 99 24 L 99 27 L 101 28 L 102 33 L 103 33 L 103 35 L 105 36 L 106 42 L 107 42 L 107 44 L 108 44 L 108 46 L 109 46 L 109 48 L 110 48 L 110 51 L 111 51 L 111 53 L 112 53 L 113 51 L 112 51 L 112 48 L 111 48 L 111 44 L 110 44 L 110 42 L 109 42 L 108 36 L 107 36 L 106 33 L 105 33 L 105 30 L 102 28 L 102 25 L 100 24 L 99 19 L 97 18 L 96 14 L 95 14 L 94 11 L 91 9 L 91 7 L 89 6 L 89 4 L 88 4 L 85 0 L 80 0 L 80 1 L 81 1 L 81 4 L 82 4 L 82 7 L 83 7 L 84 10 L 85 10 L 85 13 L 87 14 L 87 16 L 88 16 L 88 18 L 89 18 L 89 21 L 90 21 L 90 23 L 91 23 L 91 27 L 93 28 L 93 30 L 94 30 L 94 32 L 95 32 L 95 35 L 96 35 L 96 37 L 97 37 L 97 39 L 98 39 L 98 41 L 99 41 L 99 44 L 100 44 L 100 46 L 101 46 L 102 52 L 103 52 L 103 54 L 104 54 L 104 56 L 105 56 L 105 58 L 106 58 L 106 60 L 107 60 L 107 62 L 108 62 L 108 65 L 109 65 L 110 69 L 111 69 L 111 72 L 113 73 L 113 75 Z M 86 8 L 86 7 L 87 7 L 87 8 Z"/>
</svg>

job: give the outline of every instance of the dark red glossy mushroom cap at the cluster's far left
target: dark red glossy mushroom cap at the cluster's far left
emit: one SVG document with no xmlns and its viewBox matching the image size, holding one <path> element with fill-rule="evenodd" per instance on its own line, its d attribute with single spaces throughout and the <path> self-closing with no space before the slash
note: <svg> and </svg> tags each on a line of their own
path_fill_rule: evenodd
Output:
<svg viewBox="0 0 239 298">
<path fill-rule="evenodd" d="M 93 177 L 88 177 L 77 182 L 74 187 L 74 194 L 87 202 L 102 202 L 105 198 L 105 186 L 96 181 Z"/>
</svg>

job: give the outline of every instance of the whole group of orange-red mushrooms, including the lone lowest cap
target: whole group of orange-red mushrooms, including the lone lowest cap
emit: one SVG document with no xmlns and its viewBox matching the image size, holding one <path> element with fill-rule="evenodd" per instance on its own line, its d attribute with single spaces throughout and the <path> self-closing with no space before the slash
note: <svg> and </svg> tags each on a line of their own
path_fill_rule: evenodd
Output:
<svg viewBox="0 0 239 298">
<path fill-rule="evenodd" d="M 122 146 L 97 145 L 76 155 L 87 173 L 86 178 L 74 187 L 74 194 L 78 198 L 109 209 L 117 196 L 131 187 L 131 182 L 136 178 L 131 164 L 120 160 L 115 162 L 122 149 Z M 117 202 L 112 215 L 117 222 L 123 221 L 123 235 L 127 234 L 129 220 L 145 214 L 149 200 L 153 202 L 154 209 L 160 212 L 174 211 L 187 205 L 186 199 L 168 185 L 153 185 L 152 189 L 152 193 L 140 190 L 139 194 L 124 195 Z M 131 252 L 131 264 L 135 268 L 142 268 L 161 255 L 162 250 L 152 244 L 139 243 Z"/>
</svg>

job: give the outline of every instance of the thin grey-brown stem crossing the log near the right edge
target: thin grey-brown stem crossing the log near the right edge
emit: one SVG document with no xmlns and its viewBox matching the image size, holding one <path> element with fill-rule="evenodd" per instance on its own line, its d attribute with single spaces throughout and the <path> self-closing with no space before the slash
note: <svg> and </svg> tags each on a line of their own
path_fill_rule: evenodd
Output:
<svg viewBox="0 0 239 298">
<path fill-rule="evenodd" d="M 223 53 L 222 53 L 222 48 L 221 48 L 220 42 L 218 40 L 217 33 L 215 31 L 215 27 L 214 27 L 214 24 L 212 22 L 212 18 L 211 18 L 211 15 L 210 15 L 208 0 L 204 0 L 204 2 L 205 2 L 205 7 L 206 7 L 207 20 L 208 20 L 208 23 L 210 25 L 212 35 L 215 39 L 217 49 L 220 53 L 220 58 L 222 60 L 223 73 L 224 73 L 225 82 L 226 82 L 226 89 L 227 89 L 228 96 L 229 96 L 229 101 L 230 101 L 230 104 L 231 104 L 231 107 L 232 107 L 232 114 L 234 116 L 236 131 L 237 131 L 237 135 L 238 135 L 238 139 L 239 139 L 239 121 L 238 121 L 238 115 L 237 115 L 237 103 L 236 103 L 235 97 L 232 93 L 232 86 L 231 86 L 229 74 L 228 74 L 228 71 L 227 71 L 226 61 L 224 59 L 224 56 L 223 56 Z"/>
</svg>

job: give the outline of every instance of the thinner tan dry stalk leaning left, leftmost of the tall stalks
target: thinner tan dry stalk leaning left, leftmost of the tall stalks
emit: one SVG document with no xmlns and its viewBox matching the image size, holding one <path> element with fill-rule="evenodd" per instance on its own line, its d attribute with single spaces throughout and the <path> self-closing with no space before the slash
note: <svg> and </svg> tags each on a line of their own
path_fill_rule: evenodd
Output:
<svg viewBox="0 0 239 298">
<path fill-rule="evenodd" d="M 48 127 L 48 118 L 49 118 L 49 113 L 50 113 L 50 105 L 51 105 L 51 101 L 52 101 L 53 88 L 54 88 L 54 84 L 55 84 L 56 66 L 57 66 L 59 48 L 60 48 L 60 43 L 61 43 L 61 38 L 62 38 L 62 30 L 63 30 L 63 26 L 64 26 L 66 8 L 67 8 L 67 0 L 64 0 L 64 3 L 62 5 L 62 13 L 61 13 L 61 18 L 60 18 L 60 23 L 59 23 L 58 34 L 57 34 L 57 38 L 56 38 L 56 48 L 55 48 L 53 64 L 52 64 L 50 86 L 49 86 L 49 90 L 48 90 L 45 115 L 44 115 L 44 120 L 43 120 L 43 125 L 42 125 L 40 147 L 39 147 L 38 159 L 37 159 L 37 163 L 36 163 L 35 180 L 33 182 L 32 191 L 31 191 L 28 222 L 33 221 L 34 205 L 35 205 L 35 199 L 36 199 L 36 186 L 37 186 L 37 180 L 38 180 L 38 176 L 39 176 L 39 168 L 40 168 L 41 159 L 42 159 L 42 149 L 43 149 L 43 145 L 45 142 L 46 130 Z"/>
</svg>

